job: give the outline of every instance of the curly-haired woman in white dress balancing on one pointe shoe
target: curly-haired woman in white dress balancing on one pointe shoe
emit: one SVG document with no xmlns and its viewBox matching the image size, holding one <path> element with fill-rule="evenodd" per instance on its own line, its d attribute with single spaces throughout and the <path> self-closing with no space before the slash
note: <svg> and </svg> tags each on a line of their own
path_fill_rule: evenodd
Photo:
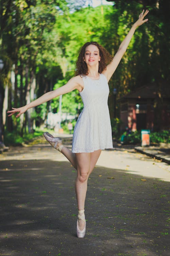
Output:
<svg viewBox="0 0 170 256">
<path fill-rule="evenodd" d="M 33 102 L 21 108 L 13 108 L 8 116 L 19 112 L 16 117 L 55 97 L 69 93 L 77 89 L 82 97 L 84 109 L 80 114 L 73 133 L 72 151 L 63 146 L 61 138 L 54 138 L 48 132 L 44 133 L 46 140 L 56 149 L 64 154 L 77 169 L 75 181 L 75 194 L 78 203 L 77 236 L 85 236 L 86 221 L 84 215 L 84 204 L 87 191 L 87 180 L 94 169 L 100 156 L 101 150 L 112 148 L 112 131 L 107 106 L 109 94 L 108 81 L 115 72 L 123 54 L 125 53 L 136 28 L 148 19 L 144 10 L 139 19 L 132 26 L 118 52 L 112 61 L 106 66 L 109 55 L 106 50 L 96 42 L 88 42 L 82 48 L 77 61 L 77 75 L 72 77 L 64 86 L 49 91 Z"/>
</svg>

